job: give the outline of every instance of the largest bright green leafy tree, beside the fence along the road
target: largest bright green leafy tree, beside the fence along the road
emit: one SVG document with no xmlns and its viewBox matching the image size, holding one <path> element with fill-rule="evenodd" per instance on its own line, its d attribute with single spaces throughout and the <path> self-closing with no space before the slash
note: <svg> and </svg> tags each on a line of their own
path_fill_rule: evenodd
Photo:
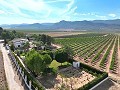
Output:
<svg viewBox="0 0 120 90">
<path fill-rule="evenodd" d="M 26 55 L 26 65 L 32 72 L 36 73 L 37 75 L 40 75 L 45 69 L 45 64 L 43 62 L 44 60 L 42 55 L 40 55 L 35 50 L 29 51 Z"/>
</svg>

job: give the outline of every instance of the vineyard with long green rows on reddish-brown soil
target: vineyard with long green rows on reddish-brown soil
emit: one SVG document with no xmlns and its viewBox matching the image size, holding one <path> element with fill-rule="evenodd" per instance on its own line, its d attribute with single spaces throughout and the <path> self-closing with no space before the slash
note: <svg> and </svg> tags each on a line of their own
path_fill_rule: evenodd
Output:
<svg viewBox="0 0 120 90">
<path fill-rule="evenodd" d="M 101 71 L 118 74 L 120 37 L 115 34 L 82 34 L 59 37 L 55 43 L 68 45 L 74 59 Z"/>
</svg>

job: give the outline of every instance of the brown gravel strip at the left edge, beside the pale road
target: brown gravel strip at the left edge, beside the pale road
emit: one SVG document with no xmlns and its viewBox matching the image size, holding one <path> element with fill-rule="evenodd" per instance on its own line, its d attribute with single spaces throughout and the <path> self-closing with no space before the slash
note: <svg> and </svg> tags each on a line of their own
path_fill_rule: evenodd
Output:
<svg viewBox="0 0 120 90">
<path fill-rule="evenodd" d="M 7 81 L 5 77 L 3 57 L 2 57 L 1 51 L 0 51 L 0 90 L 8 90 Z"/>
</svg>

